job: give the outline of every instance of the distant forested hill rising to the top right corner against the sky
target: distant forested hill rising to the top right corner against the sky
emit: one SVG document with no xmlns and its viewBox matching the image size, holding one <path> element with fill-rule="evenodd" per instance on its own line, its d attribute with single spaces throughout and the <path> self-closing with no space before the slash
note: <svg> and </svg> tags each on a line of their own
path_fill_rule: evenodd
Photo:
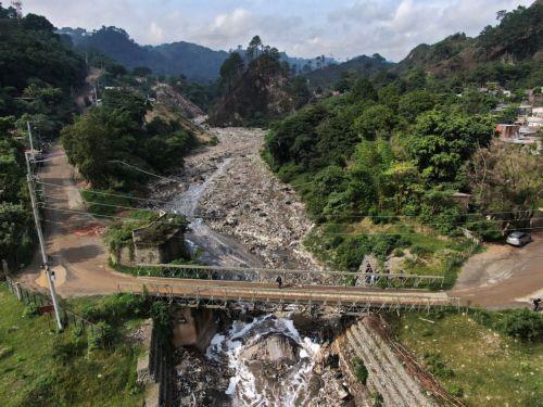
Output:
<svg viewBox="0 0 543 407">
<path fill-rule="evenodd" d="M 543 1 L 529 8 L 519 7 L 510 13 L 498 13 L 500 24 L 487 26 L 479 36 L 452 35 L 432 46 L 422 43 L 413 49 L 394 71 L 403 73 L 422 68 L 437 77 L 484 75 L 487 80 L 501 81 L 505 76 L 530 71 L 532 86 L 543 73 Z M 536 68 L 540 66 L 539 69 Z"/>
</svg>

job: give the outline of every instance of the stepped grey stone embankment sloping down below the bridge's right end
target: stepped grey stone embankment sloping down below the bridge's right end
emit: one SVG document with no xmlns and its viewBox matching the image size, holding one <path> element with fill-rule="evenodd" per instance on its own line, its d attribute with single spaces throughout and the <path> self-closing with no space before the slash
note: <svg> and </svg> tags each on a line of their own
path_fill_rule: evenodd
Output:
<svg viewBox="0 0 543 407">
<path fill-rule="evenodd" d="M 402 345 L 391 339 L 388 327 L 377 317 L 365 317 L 337 338 L 332 351 L 349 377 L 356 405 L 370 406 L 376 397 L 384 406 L 463 406 L 449 395 Z M 363 361 L 368 371 L 364 385 L 353 360 Z"/>
</svg>

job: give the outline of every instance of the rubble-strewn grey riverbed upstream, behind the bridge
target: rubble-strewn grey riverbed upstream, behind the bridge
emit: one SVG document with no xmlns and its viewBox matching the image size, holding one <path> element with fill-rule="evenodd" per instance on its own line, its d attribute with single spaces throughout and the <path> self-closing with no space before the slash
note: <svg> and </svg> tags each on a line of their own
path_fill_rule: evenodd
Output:
<svg viewBox="0 0 543 407">
<path fill-rule="evenodd" d="M 201 260 L 223 266 L 318 268 L 302 247 L 312 222 L 295 192 L 260 156 L 264 131 L 214 128 L 216 145 L 188 156 L 178 182 L 161 181 L 153 196 L 195 219 L 191 244 Z"/>
</svg>

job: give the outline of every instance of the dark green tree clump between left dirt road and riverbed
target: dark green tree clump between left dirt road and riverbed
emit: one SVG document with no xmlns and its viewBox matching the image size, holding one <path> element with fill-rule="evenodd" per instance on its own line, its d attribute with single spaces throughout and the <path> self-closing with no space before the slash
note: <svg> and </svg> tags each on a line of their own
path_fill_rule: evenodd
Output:
<svg viewBox="0 0 543 407">
<path fill-rule="evenodd" d="M 174 119 L 146 122 L 150 109 L 134 90 L 105 90 L 101 105 L 62 130 L 70 161 L 92 187 L 129 190 L 148 178 L 142 170 L 166 174 L 182 165 L 193 133 Z"/>
</svg>

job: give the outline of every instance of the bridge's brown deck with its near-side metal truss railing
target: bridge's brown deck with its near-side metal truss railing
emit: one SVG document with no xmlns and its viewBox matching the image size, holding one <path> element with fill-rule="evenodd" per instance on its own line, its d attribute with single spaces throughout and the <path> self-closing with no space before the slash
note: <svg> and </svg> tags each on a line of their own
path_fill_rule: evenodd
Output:
<svg viewBox="0 0 543 407">
<path fill-rule="evenodd" d="M 287 307 L 303 309 L 332 308 L 342 314 L 361 314 L 376 309 L 421 310 L 434 307 L 458 307 L 457 297 L 428 295 L 425 293 L 394 293 L 386 291 L 374 292 L 337 292 L 337 291 L 291 291 L 251 287 L 220 285 L 186 285 L 131 283 L 117 284 L 119 292 L 166 298 L 171 303 L 182 306 L 207 308 L 233 307 L 239 309 L 257 308 L 273 311 Z"/>
</svg>

